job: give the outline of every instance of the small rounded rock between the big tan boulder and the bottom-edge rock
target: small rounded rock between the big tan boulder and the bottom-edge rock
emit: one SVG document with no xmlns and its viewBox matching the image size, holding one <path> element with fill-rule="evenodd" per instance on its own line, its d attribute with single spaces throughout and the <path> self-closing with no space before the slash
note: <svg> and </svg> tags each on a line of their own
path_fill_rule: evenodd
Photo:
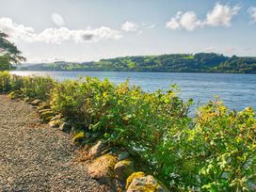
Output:
<svg viewBox="0 0 256 192">
<path fill-rule="evenodd" d="M 116 164 L 114 172 L 117 178 L 125 183 L 129 175 L 135 172 L 134 163 L 131 160 L 122 160 Z"/>
</svg>

